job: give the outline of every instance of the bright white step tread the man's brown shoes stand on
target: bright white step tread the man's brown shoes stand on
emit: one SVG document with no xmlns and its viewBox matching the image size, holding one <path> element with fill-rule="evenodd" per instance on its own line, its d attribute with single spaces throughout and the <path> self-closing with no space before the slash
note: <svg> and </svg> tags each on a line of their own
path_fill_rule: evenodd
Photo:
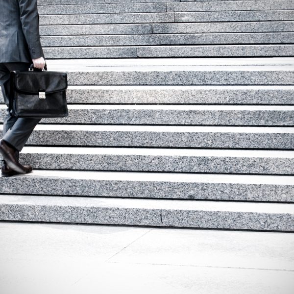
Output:
<svg viewBox="0 0 294 294">
<path fill-rule="evenodd" d="M 12 178 L 10 178 L 12 179 Z M 10 180 L 1 178 L 1 180 Z M 250 184 L 279 185 L 294 187 L 294 176 L 255 175 L 255 174 L 210 174 L 210 173 L 156 173 L 156 172 L 92 172 L 92 171 L 52 171 L 34 170 L 32 173 L 16 175 L 13 180 L 27 179 L 73 179 L 122 182 L 169 182 L 169 183 L 214 183 L 214 184 Z"/>
</svg>

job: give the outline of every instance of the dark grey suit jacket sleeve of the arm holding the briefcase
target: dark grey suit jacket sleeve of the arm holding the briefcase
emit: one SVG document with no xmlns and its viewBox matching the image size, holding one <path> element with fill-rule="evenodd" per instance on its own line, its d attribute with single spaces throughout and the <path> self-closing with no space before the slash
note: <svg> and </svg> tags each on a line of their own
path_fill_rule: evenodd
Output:
<svg viewBox="0 0 294 294">
<path fill-rule="evenodd" d="M 30 56 L 32 59 L 39 58 L 43 56 L 43 50 L 40 42 L 37 0 L 18 1 L 21 23 Z"/>
</svg>

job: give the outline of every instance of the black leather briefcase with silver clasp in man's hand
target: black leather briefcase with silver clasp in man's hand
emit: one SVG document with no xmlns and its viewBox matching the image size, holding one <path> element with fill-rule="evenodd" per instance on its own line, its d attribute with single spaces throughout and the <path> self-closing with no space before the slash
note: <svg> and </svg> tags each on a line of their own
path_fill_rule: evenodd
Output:
<svg viewBox="0 0 294 294">
<path fill-rule="evenodd" d="M 38 119 L 68 116 L 67 86 L 67 73 L 36 71 L 32 66 L 27 72 L 11 72 L 10 115 Z"/>
</svg>

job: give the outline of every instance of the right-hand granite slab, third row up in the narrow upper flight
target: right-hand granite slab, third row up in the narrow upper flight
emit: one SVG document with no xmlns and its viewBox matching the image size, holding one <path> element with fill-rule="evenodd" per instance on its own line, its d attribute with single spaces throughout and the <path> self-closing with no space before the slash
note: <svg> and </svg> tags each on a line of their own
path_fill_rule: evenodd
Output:
<svg viewBox="0 0 294 294">
<path fill-rule="evenodd" d="M 232 22 L 232 23 L 185 23 L 154 24 L 155 34 L 178 33 L 233 33 L 233 32 L 293 32 L 294 22 Z"/>
</svg>

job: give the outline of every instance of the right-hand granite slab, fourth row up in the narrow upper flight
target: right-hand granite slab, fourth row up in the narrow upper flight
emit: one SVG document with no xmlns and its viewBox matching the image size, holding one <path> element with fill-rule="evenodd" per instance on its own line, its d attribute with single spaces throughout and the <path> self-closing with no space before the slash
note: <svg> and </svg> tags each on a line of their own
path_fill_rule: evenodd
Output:
<svg viewBox="0 0 294 294">
<path fill-rule="evenodd" d="M 42 20 L 42 17 L 41 17 Z M 292 21 L 294 10 L 175 12 L 175 23 Z"/>
</svg>

